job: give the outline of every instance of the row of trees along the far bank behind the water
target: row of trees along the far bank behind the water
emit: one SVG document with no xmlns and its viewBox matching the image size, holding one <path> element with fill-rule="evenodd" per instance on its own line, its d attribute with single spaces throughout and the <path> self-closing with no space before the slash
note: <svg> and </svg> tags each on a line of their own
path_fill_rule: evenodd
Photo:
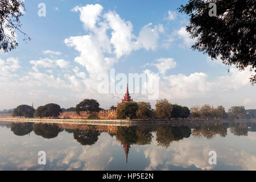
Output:
<svg viewBox="0 0 256 182">
<path fill-rule="evenodd" d="M 243 119 L 256 118 L 256 109 L 245 110 L 244 106 L 230 107 L 228 112 L 223 106 L 213 108 L 209 104 L 203 106 L 193 106 L 189 110 L 186 106 L 171 104 L 166 98 L 157 100 L 155 109 L 151 108 L 149 102 L 125 102 L 118 105 L 118 107 L 111 106 L 110 109 L 117 110 L 118 119 L 171 119 L 171 118 L 195 118 L 195 119 Z M 14 117 L 25 118 L 55 118 L 63 111 L 76 111 L 80 114 L 81 111 L 88 111 L 88 118 L 93 112 L 104 110 L 100 107 L 97 100 L 85 99 L 81 101 L 76 107 L 69 109 L 61 108 L 57 104 L 47 104 L 39 106 L 36 110 L 28 105 L 19 105 L 13 109 Z"/>
</svg>

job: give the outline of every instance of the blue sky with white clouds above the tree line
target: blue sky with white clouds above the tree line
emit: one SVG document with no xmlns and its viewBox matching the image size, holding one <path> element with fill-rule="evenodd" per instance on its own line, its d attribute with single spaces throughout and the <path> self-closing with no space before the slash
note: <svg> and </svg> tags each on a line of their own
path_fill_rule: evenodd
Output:
<svg viewBox="0 0 256 182">
<path fill-rule="evenodd" d="M 127 77 L 143 73 L 149 80 L 158 75 L 158 97 L 148 99 L 147 93 L 130 89 L 134 101 L 150 102 L 152 108 L 156 100 L 167 98 L 188 107 L 256 109 L 250 68 L 240 72 L 191 49 L 195 40 L 185 31 L 189 17 L 177 10 L 185 3 L 24 1 L 21 29 L 31 40 L 24 42 L 16 31 L 19 46 L 0 51 L 0 110 L 32 103 L 68 108 L 85 98 L 109 109 L 121 101 L 123 93 L 101 93 L 98 76 L 113 70 Z"/>
</svg>

